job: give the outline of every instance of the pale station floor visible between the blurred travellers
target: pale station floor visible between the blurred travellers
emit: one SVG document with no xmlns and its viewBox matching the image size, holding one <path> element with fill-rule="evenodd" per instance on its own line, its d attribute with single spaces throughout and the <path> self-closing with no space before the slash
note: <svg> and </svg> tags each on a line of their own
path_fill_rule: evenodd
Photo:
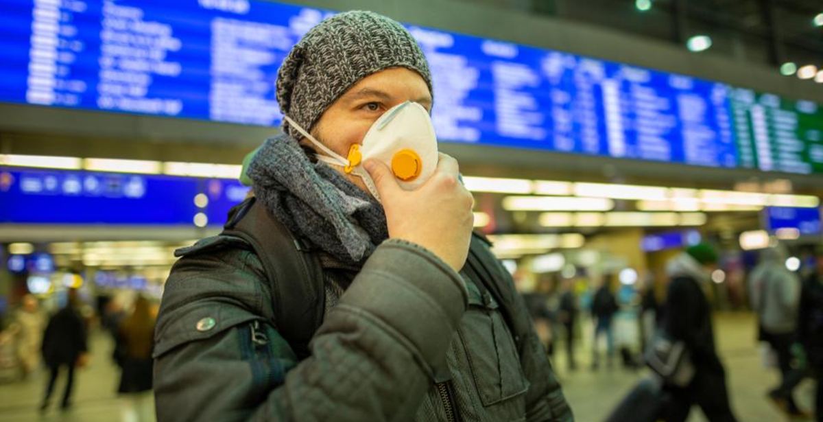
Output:
<svg viewBox="0 0 823 422">
<path fill-rule="evenodd" d="M 716 317 L 718 345 L 726 363 L 732 406 L 742 422 L 780 422 L 785 420 L 765 400 L 765 391 L 777 382 L 777 374 L 762 367 L 760 350 L 754 339 L 754 321 L 750 315 L 727 314 Z M 94 338 L 94 357 L 89 368 L 77 374 L 75 406 L 62 413 L 58 409 L 40 415 L 36 407 L 44 386 L 44 373 L 36 374 L 29 381 L 0 384 L 0 422 L 26 422 L 65 420 L 78 422 L 111 422 L 125 419 L 127 404 L 115 394 L 118 373 L 109 362 L 110 345 L 103 335 Z M 565 389 L 566 397 L 579 422 L 600 422 L 609 411 L 643 377 L 621 368 L 601 368 L 593 372 L 588 368 L 588 352 L 579 353 L 580 367 L 576 372 L 565 370 L 565 356 L 558 351 L 556 367 Z M 62 390 L 58 384 L 58 391 Z M 802 384 L 797 399 L 808 408 L 811 400 L 811 384 Z M 151 403 L 144 409 L 151 415 Z M 130 414 L 133 416 L 133 414 Z M 149 418 L 148 420 L 151 420 Z M 691 421 L 702 421 L 699 410 L 694 410 Z"/>
</svg>

